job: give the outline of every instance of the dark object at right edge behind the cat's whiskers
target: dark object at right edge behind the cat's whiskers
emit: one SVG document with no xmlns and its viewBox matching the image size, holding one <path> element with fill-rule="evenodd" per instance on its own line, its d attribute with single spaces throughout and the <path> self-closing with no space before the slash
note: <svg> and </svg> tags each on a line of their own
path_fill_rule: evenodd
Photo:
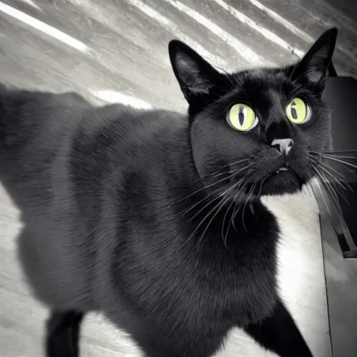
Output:
<svg viewBox="0 0 357 357">
<path fill-rule="evenodd" d="M 331 76 L 331 71 L 330 76 Z M 329 77 L 322 98 L 329 103 L 332 111 L 331 135 L 333 151 L 341 158 L 330 158 L 328 164 L 340 174 L 340 182 L 349 190 L 337 192 L 338 205 L 341 211 L 336 210 L 335 200 L 331 200 L 328 211 L 336 230 L 338 242 L 344 258 L 357 258 L 357 167 L 355 158 L 357 141 L 357 79 L 353 77 Z M 347 160 L 345 160 L 347 158 Z M 342 162 L 341 162 L 342 161 Z M 328 189 L 327 189 L 328 191 Z M 323 207 L 324 197 L 320 197 Z M 337 206 L 338 207 L 338 206 Z M 342 214 L 341 214 L 342 213 Z M 342 222 L 342 219 L 345 224 Z"/>
</svg>

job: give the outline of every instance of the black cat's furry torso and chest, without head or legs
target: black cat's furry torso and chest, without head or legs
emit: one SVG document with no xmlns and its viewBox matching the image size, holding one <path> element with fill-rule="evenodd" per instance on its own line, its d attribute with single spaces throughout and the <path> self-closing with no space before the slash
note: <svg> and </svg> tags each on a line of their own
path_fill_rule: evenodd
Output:
<svg viewBox="0 0 357 357">
<path fill-rule="evenodd" d="M 207 210 L 192 222 L 197 210 L 184 212 L 206 195 L 191 195 L 203 186 L 185 116 L 91 107 L 72 93 L 6 91 L 1 100 L 1 179 L 22 210 L 20 257 L 41 301 L 99 309 L 132 333 L 160 331 L 171 347 L 190 338 L 192 356 L 199 340 L 216 348 L 230 328 L 273 310 L 278 227 L 264 206 L 255 204 L 254 220 L 246 208 L 245 227 L 236 216 L 226 245 L 225 210 L 201 246 L 206 225 L 188 239 Z"/>
</svg>

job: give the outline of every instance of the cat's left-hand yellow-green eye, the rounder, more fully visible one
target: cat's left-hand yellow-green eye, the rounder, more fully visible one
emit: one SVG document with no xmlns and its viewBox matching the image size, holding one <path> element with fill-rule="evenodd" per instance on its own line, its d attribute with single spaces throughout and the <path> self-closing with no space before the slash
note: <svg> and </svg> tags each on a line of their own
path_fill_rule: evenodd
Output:
<svg viewBox="0 0 357 357">
<path fill-rule="evenodd" d="M 257 125 L 258 118 L 248 105 L 236 104 L 229 110 L 227 121 L 236 130 L 248 131 Z"/>
</svg>

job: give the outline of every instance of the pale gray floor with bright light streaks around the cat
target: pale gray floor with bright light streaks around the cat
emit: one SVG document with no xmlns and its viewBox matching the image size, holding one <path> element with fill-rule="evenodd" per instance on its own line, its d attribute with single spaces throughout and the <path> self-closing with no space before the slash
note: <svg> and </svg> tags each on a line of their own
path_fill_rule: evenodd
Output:
<svg viewBox="0 0 357 357">
<path fill-rule="evenodd" d="M 347 6 L 349 2 L 349 7 Z M 298 59 L 329 26 L 340 28 L 335 65 L 357 77 L 356 1 L 337 0 L 6 0 L 0 1 L 0 81 L 32 89 L 75 90 L 93 102 L 182 111 L 167 43 L 184 40 L 220 68 L 275 66 Z M 282 294 L 314 356 L 356 356 L 357 264 L 343 261 L 328 221 L 324 259 L 316 203 L 309 195 L 268 199 L 278 215 Z M 299 211 L 300 210 L 300 211 Z M 0 354 L 42 356 L 46 310 L 31 298 L 15 255 L 17 211 L 0 190 Z M 339 304 L 339 302 L 342 302 Z M 344 306 L 344 304 L 346 304 Z M 347 310 L 345 307 L 349 306 Z M 84 356 L 140 356 L 100 316 L 84 326 Z M 271 356 L 233 331 L 228 356 Z"/>
</svg>

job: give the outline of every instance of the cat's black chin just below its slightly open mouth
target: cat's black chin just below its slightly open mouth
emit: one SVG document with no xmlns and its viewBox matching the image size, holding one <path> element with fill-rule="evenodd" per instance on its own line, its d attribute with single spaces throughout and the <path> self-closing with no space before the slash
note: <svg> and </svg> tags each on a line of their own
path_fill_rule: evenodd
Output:
<svg viewBox="0 0 357 357">
<path fill-rule="evenodd" d="M 280 172 L 273 174 L 263 183 L 261 195 L 285 195 L 301 191 L 303 180 L 294 172 Z"/>
</svg>

